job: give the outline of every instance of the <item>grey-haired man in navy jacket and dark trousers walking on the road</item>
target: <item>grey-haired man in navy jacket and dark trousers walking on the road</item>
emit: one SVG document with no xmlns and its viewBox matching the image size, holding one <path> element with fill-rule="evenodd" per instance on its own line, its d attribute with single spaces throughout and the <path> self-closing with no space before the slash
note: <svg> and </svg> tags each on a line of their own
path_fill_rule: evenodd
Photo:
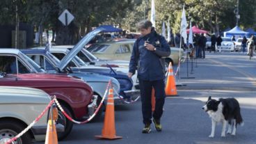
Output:
<svg viewBox="0 0 256 144">
<path fill-rule="evenodd" d="M 170 47 L 163 36 L 157 34 L 148 20 L 138 22 L 137 28 L 141 31 L 141 37 L 134 43 L 129 63 L 128 76 L 131 77 L 136 70 L 138 71 L 139 86 L 141 89 L 141 103 L 143 133 L 148 134 L 151 131 L 150 125 L 152 117 L 157 131 L 161 131 L 161 115 L 163 114 L 163 104 L 165 102 L 165 64 L 163 56 L 170 55 Z M 152 88 L 156 99 L 155 110 L 152 114 Z"/>
</svg>

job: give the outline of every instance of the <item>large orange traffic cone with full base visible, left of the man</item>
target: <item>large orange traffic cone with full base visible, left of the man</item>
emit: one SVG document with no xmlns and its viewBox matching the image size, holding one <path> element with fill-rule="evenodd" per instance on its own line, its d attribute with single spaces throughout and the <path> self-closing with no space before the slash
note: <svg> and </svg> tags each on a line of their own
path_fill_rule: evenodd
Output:
<svg viewBox="0 0 256 144">
<path fill-rule="evenodd" d="M 95 136 L 96 138 L 118 139 L 121 136 L 115 135 L 115 107 L 113 99 L 113 89 L 109 89 L 108 102 L 106 104 L 106 112 L 104 118 L 104 126 L 102 129 L 102 136 Z"/>
</svg>

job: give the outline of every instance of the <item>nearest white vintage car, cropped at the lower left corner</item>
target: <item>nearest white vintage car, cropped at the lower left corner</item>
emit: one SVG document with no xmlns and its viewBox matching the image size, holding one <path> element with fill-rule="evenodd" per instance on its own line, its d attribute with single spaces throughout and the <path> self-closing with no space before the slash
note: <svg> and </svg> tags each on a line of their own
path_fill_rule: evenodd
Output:
<svg viewBox="0 0 256 144">
<path fill-rule="evenodd" d="M 42 90 L 0 86 L 0 143 L 5 143 L 30 125 L 49 102 L 49 95 Z M 48 113 L 45 113 L 32 129 L 18 138 L 15 143 L 29 144 L 33 140 L 44 140 Z M 59 129 L 61 126 L 57 125 L 57 127 Z"/>
</svg>

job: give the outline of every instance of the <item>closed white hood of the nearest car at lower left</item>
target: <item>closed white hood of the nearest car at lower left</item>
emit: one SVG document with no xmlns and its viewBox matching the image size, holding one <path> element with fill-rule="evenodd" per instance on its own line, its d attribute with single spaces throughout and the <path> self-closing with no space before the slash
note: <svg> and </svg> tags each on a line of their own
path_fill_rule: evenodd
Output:
<svg viewBox="0 0 256 144">
<path fill-rule="evenodd" d="M 47 93 L 36 88 L 0 86 L 0 104 L 48 104 Z"/>
</svg>

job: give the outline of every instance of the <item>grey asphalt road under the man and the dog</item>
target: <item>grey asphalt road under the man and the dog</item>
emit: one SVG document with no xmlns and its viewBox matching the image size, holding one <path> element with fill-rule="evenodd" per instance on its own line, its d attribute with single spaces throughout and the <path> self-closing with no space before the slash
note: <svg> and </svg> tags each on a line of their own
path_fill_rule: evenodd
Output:
<svg viewBox="0 0 256 144">
<path fill-rule="evenodd" d="M 241 53 L 209 54 L 197 61 L 197 67 L 189 77 L 179 79 L 184 86 L 177 87 L 178 97 L 167 97 L 161 120 L 163 131 L 157 132 L 152 126 L 150 134 L 142 134 L 141 102 L 125 106 L 115 106 L 115 127 L 118 136 L 115 141 L 98 140 L 94 136 L 102 132 L 103 120 L 86 125 L 74 125 L 71 134 L 60 144 L 80 143 L 256 143 L 255 115 L 255 65 L 248 56 Z M 195 66 L 195 63 L 194 63 Z M 174 67 L 176 69 L 176 67 Z M 187 77 L 186 62 L 182 63 L 180 78 Z M 185 86 L 186 85 L 186 86 Z M 221 125 L 216 127 L 214 138 L 211 132 L 211 119 L 202 111 L 207 97 L 236 97 L 241 104 L 241 114 L 245 125 L 237 129 L 236 136 L 221 137 Z"/>
</svg>

